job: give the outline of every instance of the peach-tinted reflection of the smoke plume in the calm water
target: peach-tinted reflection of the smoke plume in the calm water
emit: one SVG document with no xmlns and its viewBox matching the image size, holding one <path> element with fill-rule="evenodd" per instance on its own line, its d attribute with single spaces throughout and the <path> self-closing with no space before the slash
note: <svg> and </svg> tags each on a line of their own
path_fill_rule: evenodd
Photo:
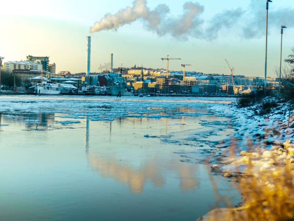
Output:
<svg viewBox="0 0 294 221">
<path fill-rule="evenodd" d="M 148 160 L 139 168 L 132 165 L 124 165 L 120 160 L 100 157 L 98 154 L 89 153 L 89 165 L 99 176 L 113 178 L 123 185 L 128 185 L 130 192 L 139 194 L 147 182 L 153 183 L 155 187 L 165 184 L 166 173 L 156 160 Z M 198 166 L 190 163 L 169 162 L 169 171 L 176 173 L 179 177 L 179 187 L 183 191 L 194 189 L 200 182 L 197 180 Z"/>
</svg>

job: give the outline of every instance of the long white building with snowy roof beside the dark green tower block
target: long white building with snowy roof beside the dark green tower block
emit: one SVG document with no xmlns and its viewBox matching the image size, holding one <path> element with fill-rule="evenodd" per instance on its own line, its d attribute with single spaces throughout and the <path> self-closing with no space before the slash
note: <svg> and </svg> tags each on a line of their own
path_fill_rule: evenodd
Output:
<svg viewBox="0 0 294 221">
<path fill-rule="evenodd" d="M 4 62 L 4 69 L 6 73 L 12 73 L 14 69 L 41 71 L 42 64 L 32 61 L 7 61 Z"/>
</svg>

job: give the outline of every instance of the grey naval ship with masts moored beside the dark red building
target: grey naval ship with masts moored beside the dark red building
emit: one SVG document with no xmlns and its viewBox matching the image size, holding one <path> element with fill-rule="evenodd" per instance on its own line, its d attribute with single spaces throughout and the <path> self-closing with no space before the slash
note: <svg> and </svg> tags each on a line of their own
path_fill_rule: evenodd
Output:
<svg viewBox="0 0 294 221">
<path fill-rule="evenodd" d="M 112 78 L 113 84 L 110 86 L 110 94 L 113 96 L 134 96 L 133 87 L 126 84 L 125 79 L 120 74 L 108 73 Z"/>
</svg>

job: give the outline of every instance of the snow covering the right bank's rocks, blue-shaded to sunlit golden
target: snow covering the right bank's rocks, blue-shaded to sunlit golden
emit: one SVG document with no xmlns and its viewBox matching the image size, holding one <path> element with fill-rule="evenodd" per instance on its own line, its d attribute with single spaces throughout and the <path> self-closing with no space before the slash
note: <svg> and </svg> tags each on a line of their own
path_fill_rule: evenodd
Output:
<svg viewBox="0 0 294 221">
<path fill-rule="evenodd" d="M 272 98 L 266 98 L 268 99 Z M 231 103 L 215 105 L 210 109 L 223 116 L 232 115 L 232 122 L 236 126 L 236 133 L 217 146 L 235 147 L 237 153 L 234 157 L 220 161 L 219 171 L 222 173 L 244 172 L 249 162 L 256 171 L 274 171 L 274 156 L 278 156 L 279 161 L 286 162 L 287 157 L 294 154 L 294 129 L 288 128 L 288 103 L 279 104 L 276 110 L 272 109 L 266 115 L 258 115 L 261 109 L 257 105 L 237 108 Z"/>
</svg>

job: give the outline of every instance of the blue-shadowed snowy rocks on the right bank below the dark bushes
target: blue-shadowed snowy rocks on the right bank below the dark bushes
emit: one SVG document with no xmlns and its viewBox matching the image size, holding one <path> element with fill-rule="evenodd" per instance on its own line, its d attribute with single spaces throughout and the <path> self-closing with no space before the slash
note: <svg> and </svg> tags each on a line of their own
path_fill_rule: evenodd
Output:
<svg viewBox="0 0 294 221">
<path fill-rule="evenodd" d="M 232 116 L 232 122 L 236 125 L 236 133 L 231 139 L 242 140 L 239 148 L 247 149 L 248 140 L 252 145 L 261 148 L 270 148 L 272 144 L 282 145 L 286 140 L 293 141 L 294 124 L 290 119 L 288 127 L 289 107 L 288 103 L 281 103 L 269 114 L 258 115 L 261 111 L 257 105 L 246 108 L 237 108 L 236 103 L 227 105 L 215 105 L 210 107 L 224 116 Z"/>
</svg>

